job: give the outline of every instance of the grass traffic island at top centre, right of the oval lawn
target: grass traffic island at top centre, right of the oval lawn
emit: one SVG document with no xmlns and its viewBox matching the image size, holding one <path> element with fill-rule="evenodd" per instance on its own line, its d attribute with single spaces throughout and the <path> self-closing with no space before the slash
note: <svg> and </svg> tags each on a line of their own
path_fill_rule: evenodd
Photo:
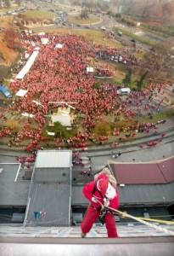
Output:
<svg viewBox="0 0 174 256">
<path fill-rule="evenodd" d="M 87 19 L 81 19 L 80 15 L 78 15 L 78 16 L 69 15 L 68 20 L 70 23 L 73 23 L 73 24 L 85 25 L 85 24 L 99 22 L 100 18 L 98 18 L 98 16 L 96 16 L 96 15 L 89 15 L 89 17 Z"/>
</svg>

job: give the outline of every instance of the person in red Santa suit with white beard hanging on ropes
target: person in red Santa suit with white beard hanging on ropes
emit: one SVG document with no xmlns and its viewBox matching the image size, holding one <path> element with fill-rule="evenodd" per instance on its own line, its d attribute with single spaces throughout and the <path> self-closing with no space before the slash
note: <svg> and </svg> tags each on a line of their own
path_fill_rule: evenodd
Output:
<svg viewBox="0 0 174 256">
<path fill-rule="evenodd" d="M 87 183 L 83 188 L 83 194 L 90 201 L 90 204 L 81 223 L 81 237 L 87 236 L 96 219 L 100 218 L 101 215 L 103 215 L 103 224 L 105 223 L 108 237 L 118 237 L 113 212 L 109 210 L 103 212 L 101 206 L 102 204 L 114 209 L 119 207 L 115 177 L 111 175 L 109 168 L 105 167 L 102 172 L 94 177 L 94 181 Z"/>
</svg>

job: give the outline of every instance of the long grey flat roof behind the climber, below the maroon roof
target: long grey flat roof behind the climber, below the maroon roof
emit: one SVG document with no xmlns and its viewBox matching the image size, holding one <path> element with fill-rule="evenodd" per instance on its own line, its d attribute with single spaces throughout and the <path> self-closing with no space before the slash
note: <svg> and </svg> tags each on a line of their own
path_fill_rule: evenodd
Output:
<svg viewBox="0 0 174 256">
<path fill-rule="evenodd" d="M 87 205 L 82 194 L 82 185 L 72 186 L 72 205 Z M 118 187 L 121 206 L 130 205 L 170 205 L 173 203 L 174 183 L 168 184 L 128 184 Z"/>
</svg>

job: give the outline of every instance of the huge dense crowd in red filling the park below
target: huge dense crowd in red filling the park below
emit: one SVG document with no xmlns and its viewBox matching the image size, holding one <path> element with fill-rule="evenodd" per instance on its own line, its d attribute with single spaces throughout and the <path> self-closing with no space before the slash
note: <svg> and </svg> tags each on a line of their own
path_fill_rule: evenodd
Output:
<svg viewBox="0 0 174 256">
<path fill-rule="evenodd" d="M 49 44 L 42 45 L 42 37 L 47 37 Z M 19 114 L 33 114 L 36 121 L 33 128 L 31 120 L 26 119 L 21 131 L 14 137 L 15 143 L 20 143 L 24 138 L 30 140 L 26 150 L 37 149 L 41 141 L 47 140 L 42 136 L 46 115 L 53 108 L 57 108 L 59 102 L 74 104 L 76 113 L 84 116 L 82 120 L 84 133 L 78 132 L 75 137 L 66 141 L 68 146 L 76 148 L 86 148 L 87 141 L 94 140 L 92 128 L 103 115 L 112 113 L 135 118 L 138 114 L 156 111 L 157 106 L 151 102 L 151 97 L 156 86 L 157 90 L 161 90 L 165 84 L 158 84 L 155 87 L 150 84 L 148 90 L 132 91 L 126 98 L 119 96 L 112 84 L 104 84 L 98 89 L 93 88 L 94 74 L 87 73 L 87 67 L 91 65 L 90 59 L 106 57 L 112 61 L 118 56 L 118 61 L 136 65 L 136 58 L 128 55 L 127 52 L 119 54 L 115 49 L 104 51 L 101 46 L 95 48 L 87 39 L 76 35 L 27 36 L 23 33 L 21 40 L 25 53 L 29 55 L 36 46 L 40 48 L 34 66 L 25 79 L 14 79 L 10 84 L 10 89 L 14 93 L 20 89 L 28 91 L 24 97 L 16 98 L 9 108 Z M 62 49 L 57 49 L 56 44 L 62 44 Z M 61 107 L 65 107 L 64 104 Z M 0 137 L 9 135 L 10 132 L 8 128 L 3 128 Z M 108 137 L 100 136 L 98 142 L 104 143 L 107 139 Z M 65 143 L 61 138 L 56 139 L 55 142 L 59 147 Z"/>
</svg>

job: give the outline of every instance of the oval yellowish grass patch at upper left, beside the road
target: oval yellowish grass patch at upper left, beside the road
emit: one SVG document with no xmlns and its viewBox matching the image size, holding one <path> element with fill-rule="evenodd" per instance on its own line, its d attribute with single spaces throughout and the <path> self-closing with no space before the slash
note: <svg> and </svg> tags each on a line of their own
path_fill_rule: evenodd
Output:
<svg viewBox="0 0 174 256">
<path fill-rule="evenodd" d="M 53 20 L 53 13 L 43 10 L 29 10 L 21 15 L 27 20 Z"/>
</svg>

